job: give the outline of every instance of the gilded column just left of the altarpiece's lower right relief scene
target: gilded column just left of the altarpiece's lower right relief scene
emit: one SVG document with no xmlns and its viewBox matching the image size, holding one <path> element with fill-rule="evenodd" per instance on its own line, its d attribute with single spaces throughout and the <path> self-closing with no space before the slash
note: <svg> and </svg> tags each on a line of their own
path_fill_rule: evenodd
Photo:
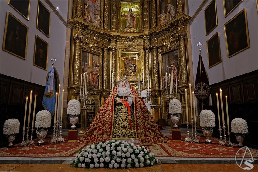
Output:
<svg viewBox="0 0 258 172">
<path fill-rule="evenodd" d="M 159 88 L 158 85 L 158 54 L 157 54 L 157 38 L 152 39 L 153 42 L 153 86 L 154 89 Z"/>
</svg>

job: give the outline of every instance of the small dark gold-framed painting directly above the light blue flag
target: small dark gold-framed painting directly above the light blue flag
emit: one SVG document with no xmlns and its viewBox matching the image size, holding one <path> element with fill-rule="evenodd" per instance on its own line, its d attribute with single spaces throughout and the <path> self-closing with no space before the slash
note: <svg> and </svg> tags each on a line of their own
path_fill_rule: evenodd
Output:
<svg viewBox="0 0 258 172">
<path fill-rule="evenodd" d="M 34 46 L 34 56 L 33 65 L 41 69 L 47 70 L 48 61 L 48 43 L 35 35 L 35 46 Z"/>
</svg>

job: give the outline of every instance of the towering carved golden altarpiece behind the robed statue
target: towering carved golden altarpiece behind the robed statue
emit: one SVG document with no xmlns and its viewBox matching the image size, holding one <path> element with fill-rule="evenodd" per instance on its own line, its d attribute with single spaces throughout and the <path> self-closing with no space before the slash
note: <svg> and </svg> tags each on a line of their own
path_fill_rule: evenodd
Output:
<svg viewBox="0 0 258 172">
<path fill-rule="evenodd" d="M 68 101 L 77 99 L 84 103 L 80 99 L 81 74 L 94 73 L 90 81 L 91 96 L 85 102 L 88 111 L 82 114 L 80 122 L 87 126 L 91 123 L 110 93 L 111 78 L 114 87 L 120 74 L 128 69 L 134 76 L 130 83 L 136 89 L 138 77 L 140 90 L 143 78 L 147 89 L 149 76 L 151 113 L 155 121 L 163 119 L 169 126 L 170 98 L 164 81 L 165 73 L 176 66 L 181 123 L 186 123 L 184 90 L 189 90 L 190 78 L 186 38 L 189 19 L 181 0 L 73 1 L 73 16 L 68 21 L 72 27 Z"/>
</svg>

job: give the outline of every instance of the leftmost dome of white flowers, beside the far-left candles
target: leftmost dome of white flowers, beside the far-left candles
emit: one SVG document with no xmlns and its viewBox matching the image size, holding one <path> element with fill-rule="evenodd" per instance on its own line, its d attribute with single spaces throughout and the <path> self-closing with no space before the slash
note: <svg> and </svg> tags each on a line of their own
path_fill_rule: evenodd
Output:
<svg viewBox="0 0 258 172">
<path fill-rule="evenodd" d="M 20 122 L 17 119 L 12 118 L 5 121 L 3 134 L 6 134 L 6 135 L 17 134 L 19 133 L 19 131 L 20 131 Z"/>
</svg>

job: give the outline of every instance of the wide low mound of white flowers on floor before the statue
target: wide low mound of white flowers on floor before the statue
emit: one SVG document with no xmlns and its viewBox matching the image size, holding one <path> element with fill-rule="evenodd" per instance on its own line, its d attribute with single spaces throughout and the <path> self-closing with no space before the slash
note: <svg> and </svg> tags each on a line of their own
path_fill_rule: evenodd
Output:
<svg viewBox="0 0 258 172">
<path fill-rule="evenodd" d="M 94 153 L 95 152 L 95 153 Z M 157 164 L 158 159 L 148 148 L 117 140 L 96 143 L 82 149 L 73 158 L 73 167 L 131 168 Z"/>
</svg>

